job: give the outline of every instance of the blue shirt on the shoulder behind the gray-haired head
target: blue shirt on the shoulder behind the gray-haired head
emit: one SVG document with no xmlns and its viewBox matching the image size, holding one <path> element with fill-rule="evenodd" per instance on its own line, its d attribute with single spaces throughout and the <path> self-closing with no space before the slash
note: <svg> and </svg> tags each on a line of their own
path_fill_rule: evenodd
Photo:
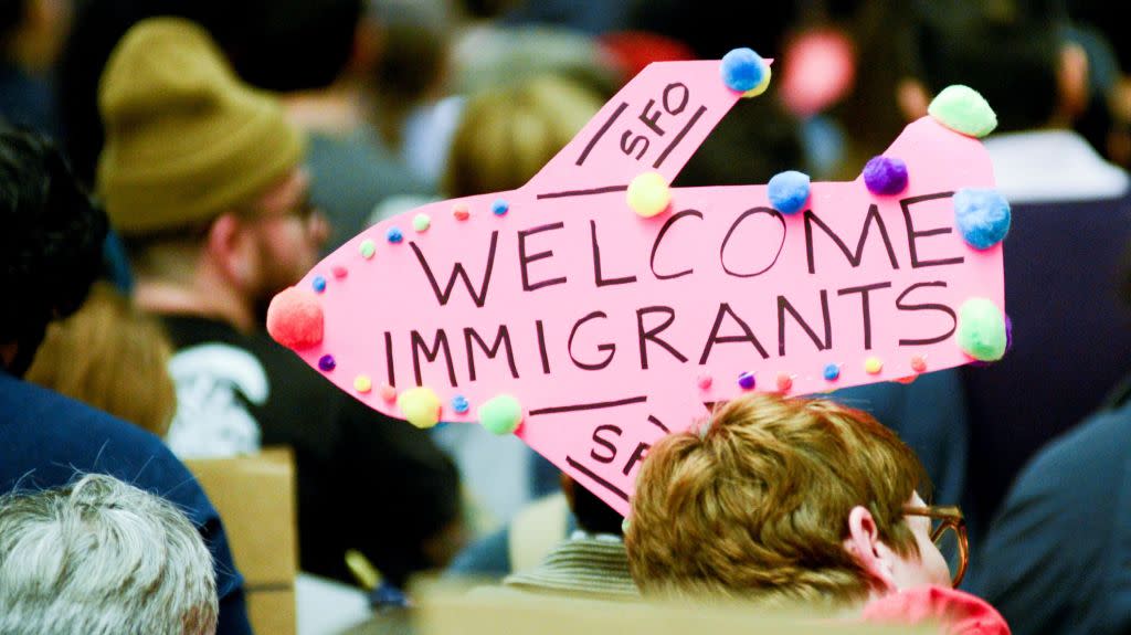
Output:
<svg viewBox="0 0 1131 635">
<path fill-rule="evenodd" d="M 219 635 L 251 633 L 243 577 L 232 562 L 219 515 L 200 485 L 156 436 L 0 369 L 0 492 L 70 484 L 105 473 L 176 505 L 211 551 Z"/>
</svg>

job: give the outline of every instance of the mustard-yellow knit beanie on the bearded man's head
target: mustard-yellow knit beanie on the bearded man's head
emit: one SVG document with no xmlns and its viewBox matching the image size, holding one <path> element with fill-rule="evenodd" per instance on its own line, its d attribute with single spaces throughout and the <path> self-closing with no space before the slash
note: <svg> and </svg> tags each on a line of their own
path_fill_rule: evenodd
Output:
<svg viewBox="0 0 1131 635">
<path fill-rule="evenodd" d="M 118 43 L 98 107 L 97 191 L 126 235 L 176 229 L 244 203 L 302 158 L 277 101 L 244 85 L 198 25 L 152 18 Z"/>
</svg>

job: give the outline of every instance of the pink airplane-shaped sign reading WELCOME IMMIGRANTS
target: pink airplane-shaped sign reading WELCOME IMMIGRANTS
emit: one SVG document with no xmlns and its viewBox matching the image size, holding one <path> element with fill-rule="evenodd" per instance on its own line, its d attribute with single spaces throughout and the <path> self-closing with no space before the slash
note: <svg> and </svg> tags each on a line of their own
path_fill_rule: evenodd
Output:
<svg viewBox="0 0 1131 635">
<path fill-rule="evenodd" d="M 718 61 L 651 64 L 525 186 L 424 206 L 327 256 L 299 285 L 320 339 L 296 353 L 394 417 L 413 386 L 456 423 L 513 395 L 517 434 L 622 513 L 647 449 L 705 402 L 969 362 L 959 306 L 1002 307 L 1002 258 L 964 242 L 952 198 L 993 176 L 977 139 L 931 118 L 884 154 L 907 165 L 898 194 L 813 183 L 786 216 L 766 185 L 673 189 L 665 212 L 633 214 L 632 179 L 671 182 L 737 98 Z"/>
</svg>

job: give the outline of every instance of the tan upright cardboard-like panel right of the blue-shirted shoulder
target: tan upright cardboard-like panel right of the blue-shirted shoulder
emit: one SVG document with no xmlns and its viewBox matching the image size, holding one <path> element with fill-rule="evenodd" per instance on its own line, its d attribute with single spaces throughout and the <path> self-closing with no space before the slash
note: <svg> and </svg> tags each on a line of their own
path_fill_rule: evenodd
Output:
<svg viewBox="0 0 1131 635">
<path fill-rule="evenodd" d="M 294 459 L 290 449 L 184 462 L 219 511 L 243 574 L 256 633 L 295 633 L 299 568 Z"/>
</svg>

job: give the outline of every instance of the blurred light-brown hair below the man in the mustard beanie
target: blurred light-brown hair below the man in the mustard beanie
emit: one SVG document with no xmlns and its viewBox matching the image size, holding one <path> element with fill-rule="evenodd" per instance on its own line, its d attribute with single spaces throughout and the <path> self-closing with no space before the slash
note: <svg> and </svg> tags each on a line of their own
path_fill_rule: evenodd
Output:
<svg viewBox="0 0 1131 635">
<path fill-rule="evenodd" d="M 51 324 L 26 379 L 165 436 L 176 410 L 161 324 L 107 282 Z"/>
</svg>

